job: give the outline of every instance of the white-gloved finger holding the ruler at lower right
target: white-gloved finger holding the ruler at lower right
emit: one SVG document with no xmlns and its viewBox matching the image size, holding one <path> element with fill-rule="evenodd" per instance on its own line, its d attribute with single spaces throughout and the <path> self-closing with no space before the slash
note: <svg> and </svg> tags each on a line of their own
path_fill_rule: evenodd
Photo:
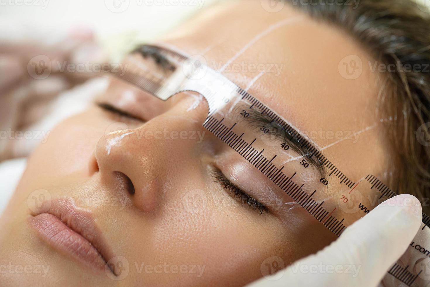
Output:
<svg viewBox="0 0 430 287">
<path fill-rule="evenodd" d="M 405 200 L 398 197 L 409 197 L 412 204 L 399 206 L 395 203 Z M 412 242 L 421 220 L 419 201 L 412 195 L 398 195 L 348 227 L 337 241 L 325 249 L 279 271 L 283 272 L 283 276 L 278 280 L 261 278 L 249 286 L 386 286 L 381 283 L 382 278 Z M 307 272 L 301 272 L 303 265 Z M 345 266 L 352 267 L 350 272 L 338 274 L 335 271 L 320 272 L 319 266 L 342 266 L 343 270 L 346 270 Z M 323 267 L 322 270 L 330 269 Z"/>
</svg>

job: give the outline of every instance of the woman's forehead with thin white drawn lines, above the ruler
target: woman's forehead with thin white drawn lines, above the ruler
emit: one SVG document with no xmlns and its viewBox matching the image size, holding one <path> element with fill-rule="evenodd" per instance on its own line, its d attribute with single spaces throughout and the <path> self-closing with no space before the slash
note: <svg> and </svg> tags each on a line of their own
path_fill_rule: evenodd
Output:
<svg viewBox="0 0 430 287">
<path fill-rule="evenodd" d="M 386 170 L 375 60 L 346 32 L 285 6 L 234 1 L 200 12 L 161 42 L 209 67 L 284 117 L 351 179 Z"/>
</svg>

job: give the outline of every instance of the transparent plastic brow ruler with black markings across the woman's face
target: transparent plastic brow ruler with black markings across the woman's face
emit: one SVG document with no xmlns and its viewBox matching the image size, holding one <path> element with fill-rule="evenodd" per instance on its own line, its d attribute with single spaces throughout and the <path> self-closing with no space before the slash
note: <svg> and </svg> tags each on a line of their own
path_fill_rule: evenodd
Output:
<svg viewBox="0 0 430 287">
<path fill-rule="evenodd" d="M 201 94 L 209 105 L 203 127 L 237 151 L 335 235 L 340 236 L 348 225 L 396 195 L 370 174 L 358 182 L 349 179 L 273 110 L 207 67 L 203 57 L 188 58 L 160 46 L 142 45 L 126 56 L 125 62 L 126 71 L 111 71 L 111 74 L 159 99 L 166 101 L 186 91 Z M 244 123 L 244 118 L 257 114 L 266 118 L 267 124 L 255 130 Z M 274 129 L 277 136 L 271 139 Z M 288 153 L 295 145 L 307 152 L 303 158 L 289 161 Z M 298 176 L 312 168 L 311 161 L 321 168 L 317 183 L 304 182 Z M 405 254 L 388 270 L 384 283 L 430 286 L 429 226 L 430 217 L 423 213 L 421 229 Z"/>
</svg>

